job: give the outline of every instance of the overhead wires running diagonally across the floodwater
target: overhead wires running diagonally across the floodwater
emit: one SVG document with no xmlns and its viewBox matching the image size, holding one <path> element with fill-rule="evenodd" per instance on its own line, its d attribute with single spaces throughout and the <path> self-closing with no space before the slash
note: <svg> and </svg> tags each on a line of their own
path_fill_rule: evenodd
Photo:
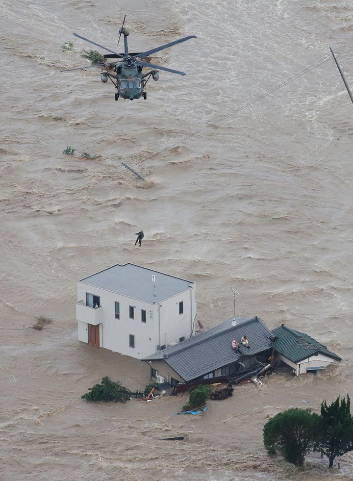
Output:
<svg viewBox="0 0 353 481">
<path fill-rule="evenodd" d="M 348 49 L 348 50 L 345 50 L 345 51 L 337 51 L 336 54 L 339 54 L 339 55 L 343 55 L 344 53 L 347 53 L 349 51 L 351 51 L 352 48 Z M 270 87 L 269 89 L 267 89 L 264 93 L 252 98 L 251 100 L 247 101 L 246 103 L 243 103 L 242 105 L 240 105 L 239 107 L 237 107 L 236 109 L 228 112 L 226 115 L 223 115 L 222 117 L 214 120 L 213 122 L 211 123 L 207 123 L 207 124 L 204 124 L 203 126 L 197 128 L 196 130 L 193 130 L 191 133 L 189 134 L 186 134 L 186 135 L 183 135 L 181 137 L 179 137 L 178 139 L 174 139 L 173 141 L 171 141 L 169 144 L 165 145 L 161 150 L 157 151 L 157 152 L 153 152 L 151 155 L 147 156 L 146 158 L 138 161 L 138 162 L 135 162 L 134 164 L 132 164 L 130 167 L 136 167 L 137 165 L 140 165 L 142 164 L 143 162 L 146 162 L 147 160 L 150 160 L 151 158 L 153 157 L 156 157 L 158 155 L 160 155 L 161 153 L 169 150 L 169 149 L 172 149 L 173 147 L 175 147 L 176 145 L 178 145 L 181 141 L 185 141 L 185 140 L 188 140 L 189 138 L 192 138 L 194 137 L 195 135 L 198 135 L 199 133 L 201 133 L 202 131 L 204 131 L 205 129 L 209 128 L 209 127 L 213 127 L 217 124 L 220 124 L 221 122 L 225 121 L 226 119 L 228 119 L 229 117 L 233 116 L 234 114 L 248 108 L 249 106 L 251 106 L 253 103 L 259 101 L 259 100 L 262 100 L 263 98 L 271 95 L 272 93 L 276 92 L 277 90 L 283 88 L 284 86 L 286 86 L 287 84 L 289 84 L 290 82 L 296 80 L 297 78 L 307 74 L 308 72 L 312 71 L 313 69 L 319 67 L 320 65 L 322 65 L 323 63 L 327 62 L 329 59 L 331 58 L 331 54 L 326 54 L 324 57 L 322 57 L 320 60 L 316 60 L 315 62 L 313 62 L 311 65 L 309 65 L 308 67 L 300 70 L 299 72 L 297 72 L 296 74 L 290 76 L 289 78 L 287 78 L 286 80 L 284 80 L 283 82 L 279 83 L 279 84 L 274 84 L 273 87 Z M 121 167 L 120 170 L 117 170 L 117 172 L 120 172 L 120 171 L 123 171 L 125 169 L 125 167 Z M 79 184 L 75 184 L 75 185 L 72 185 L 70 187 L 69 190 L 65 191 L 65 192 L 62 192 L 61 194 L 54 194 L 52 196 L 46 196 L 45 199 L 43 199 L 42 201 L 38 201 L 38 202 L 34 202 L 32 203 L 33 205 L 38 205 L 38 204 L 41 204 L 43 202 L 47 202 L 47 201 L 51 201 L 51 200 L 56 200 L 56 199 L 61 199 L 62 197 L 65 197 L 66 195 L 68 194 L 72 194 L 73 193 L 73 189 L 81 189 L 81 188 L 85 188 L 87 187 L 87 182 L 80 182 Z M 23 205 L 23 202 L 22 202 L 22 205 L 18 205 L 18 206 L 15 206 L 14 208 L 10 209 L 10 210 L 4 210 L 2 212 L 0 212 L 0 215 L 5 215 L 5 214 L 12 214 L 12 213 L 16 213 L 16 212 L 19 212 L 21 210 L 25 210 L 25 208 L 33 208 L 33 207 L 27 207 L 27 206 L 24 206 Z"/>
</svg>

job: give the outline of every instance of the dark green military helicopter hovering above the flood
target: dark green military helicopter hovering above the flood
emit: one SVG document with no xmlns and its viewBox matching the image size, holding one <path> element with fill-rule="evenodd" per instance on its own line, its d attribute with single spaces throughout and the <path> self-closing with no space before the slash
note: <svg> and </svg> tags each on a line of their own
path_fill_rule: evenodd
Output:
<svg viewBox="0 0 353 481">
<path fill-rule="evenodd" d="M 186 42 L 186 40 L 190 40 L 191 38 L 196 38 L 196 35 L 189 35 L 188 37 L 180 38 L 179 40 L 175 40 L 174 42 L 169 42 L 168 44 L 161 45 L 156 47 L 155 49 L 147 50 L 145 52 L 134 52 L 129 53 L 128 46 L 127 46 L 127 37 L 130 34 L 129 30 L 124 27 L 126 15 L 123 20 L 123 25 L 119 30 L 119 39 L 118 45 L 120 42 L 120 37 L 124 36 L 124 53 L 117 53 L 113 50 L 110 50 L 102 45 L 93 42 L 93 40 L 89 40 L 88 38 L 82 37 L 78 35 L 78 33 L 74 33 L 74 35 L 86 42 L 89 42 L 101 49 L 110 52 L 110 54 L 105 54 L 104 59 L 109 58 L 121 58 L 120 62 L 113 62 L 113 63 L 101 63 L 96 65 L 91 65 L 90 67 L 79 67 L 76 69 L 69 69 L 69 70 L 62 70 L 61 72 L 72 72 L 74 70 L 84 70 L 87 68 L 92 67 L 113 67 L 113 71 L 115 74 L 111 74 L 106 70 L 101 72 L 101 81 L 103 83 L 108 81 L 108 78 L 114 84 L 117 92 L 115 93 L 115 100 L 118 100 L 120 97 L 122 99 L 139 99 L 143 97 L 144 100 L 147 99 L 147 92 L 146 92 L 146 84 L 150 77 L 152 76 L 153 80 L 158 80 L 159 78 L 159 70 L 164 70 L 166 72 L 171 72 L 172 74 L 178 75 L 186 75 L 184 72 L 179 72 L 178 70 L 168 69 L 166 67 L 161 67 L 159 65 L 153 65 L 151 63 L 143 62 L 139 60 L 139 58 L 145 58 L 150 56 L 152 53 L 159 52 L 161 50 L 167 49 L 168 47 L 172 47 L 173 45 L 180 44 L 181 42 Z M 143 67 L 150 67 L 152 70 L 147 72 L 146 74 L 142 73 Z"/>
</svg>

